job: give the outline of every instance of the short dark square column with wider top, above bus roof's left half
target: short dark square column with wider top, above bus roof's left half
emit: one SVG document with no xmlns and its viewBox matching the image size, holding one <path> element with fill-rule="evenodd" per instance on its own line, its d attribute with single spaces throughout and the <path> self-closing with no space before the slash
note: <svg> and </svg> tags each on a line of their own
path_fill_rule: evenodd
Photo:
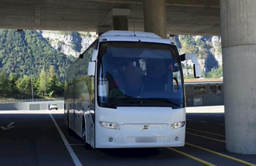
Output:
<svg viewBox="0 0 256 166">
<path fill-rule="evenodd" d="M 130 9 L 112 9 L 113 30 L 128 31 L 128 16 L 131 14 Z"/>
</svg>

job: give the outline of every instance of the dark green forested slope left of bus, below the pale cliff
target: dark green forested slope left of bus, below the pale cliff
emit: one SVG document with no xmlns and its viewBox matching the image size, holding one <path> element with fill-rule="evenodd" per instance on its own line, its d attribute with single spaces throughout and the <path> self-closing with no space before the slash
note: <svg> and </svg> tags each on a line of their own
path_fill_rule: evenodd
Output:
<svg viewBox="0 0 256 166">
<path fill-rule="evenodd" d="M 37 31 L 0 29 L 0 69 L 23 75 L 39 75 L 45 67 L 55 67 L 60 78 L 75 58 L 57 51 Z"/>
</svg>

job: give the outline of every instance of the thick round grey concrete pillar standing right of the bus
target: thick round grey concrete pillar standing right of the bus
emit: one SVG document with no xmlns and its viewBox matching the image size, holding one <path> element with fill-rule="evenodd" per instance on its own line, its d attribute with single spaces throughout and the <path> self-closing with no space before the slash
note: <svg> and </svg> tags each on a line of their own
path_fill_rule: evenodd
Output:
<svg viewBox="0 0 256 166">
<path fill-rule="evenodd" d="M 226 149 L 256 154 L 256 0 L 221 0 Z"/>
</svg>

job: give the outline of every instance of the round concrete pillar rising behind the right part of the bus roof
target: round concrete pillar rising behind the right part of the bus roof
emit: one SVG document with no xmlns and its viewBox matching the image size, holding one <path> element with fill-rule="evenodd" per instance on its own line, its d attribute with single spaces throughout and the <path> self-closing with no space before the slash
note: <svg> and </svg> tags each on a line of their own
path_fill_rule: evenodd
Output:
<svg viewBox="0 0 256 166">
<path fill-rule="evenodd" d="M 166 38 L 165 0 L 144 0 L 144 29 Z"/>
</svg>

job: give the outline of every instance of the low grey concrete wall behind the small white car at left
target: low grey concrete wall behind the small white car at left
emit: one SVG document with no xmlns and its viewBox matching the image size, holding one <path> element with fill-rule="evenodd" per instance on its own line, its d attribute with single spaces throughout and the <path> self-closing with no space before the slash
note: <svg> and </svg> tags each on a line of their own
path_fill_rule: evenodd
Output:
<svg viewBox="0 0 256 166">
<path fill-rule="evenodd" d="M 64 108 L 64 101 L 34 101 L 20 103 L 2 103 L 0 110 L 46 110 L 48 104 L 57 104 L 58 109 Z"/>
</svg>

